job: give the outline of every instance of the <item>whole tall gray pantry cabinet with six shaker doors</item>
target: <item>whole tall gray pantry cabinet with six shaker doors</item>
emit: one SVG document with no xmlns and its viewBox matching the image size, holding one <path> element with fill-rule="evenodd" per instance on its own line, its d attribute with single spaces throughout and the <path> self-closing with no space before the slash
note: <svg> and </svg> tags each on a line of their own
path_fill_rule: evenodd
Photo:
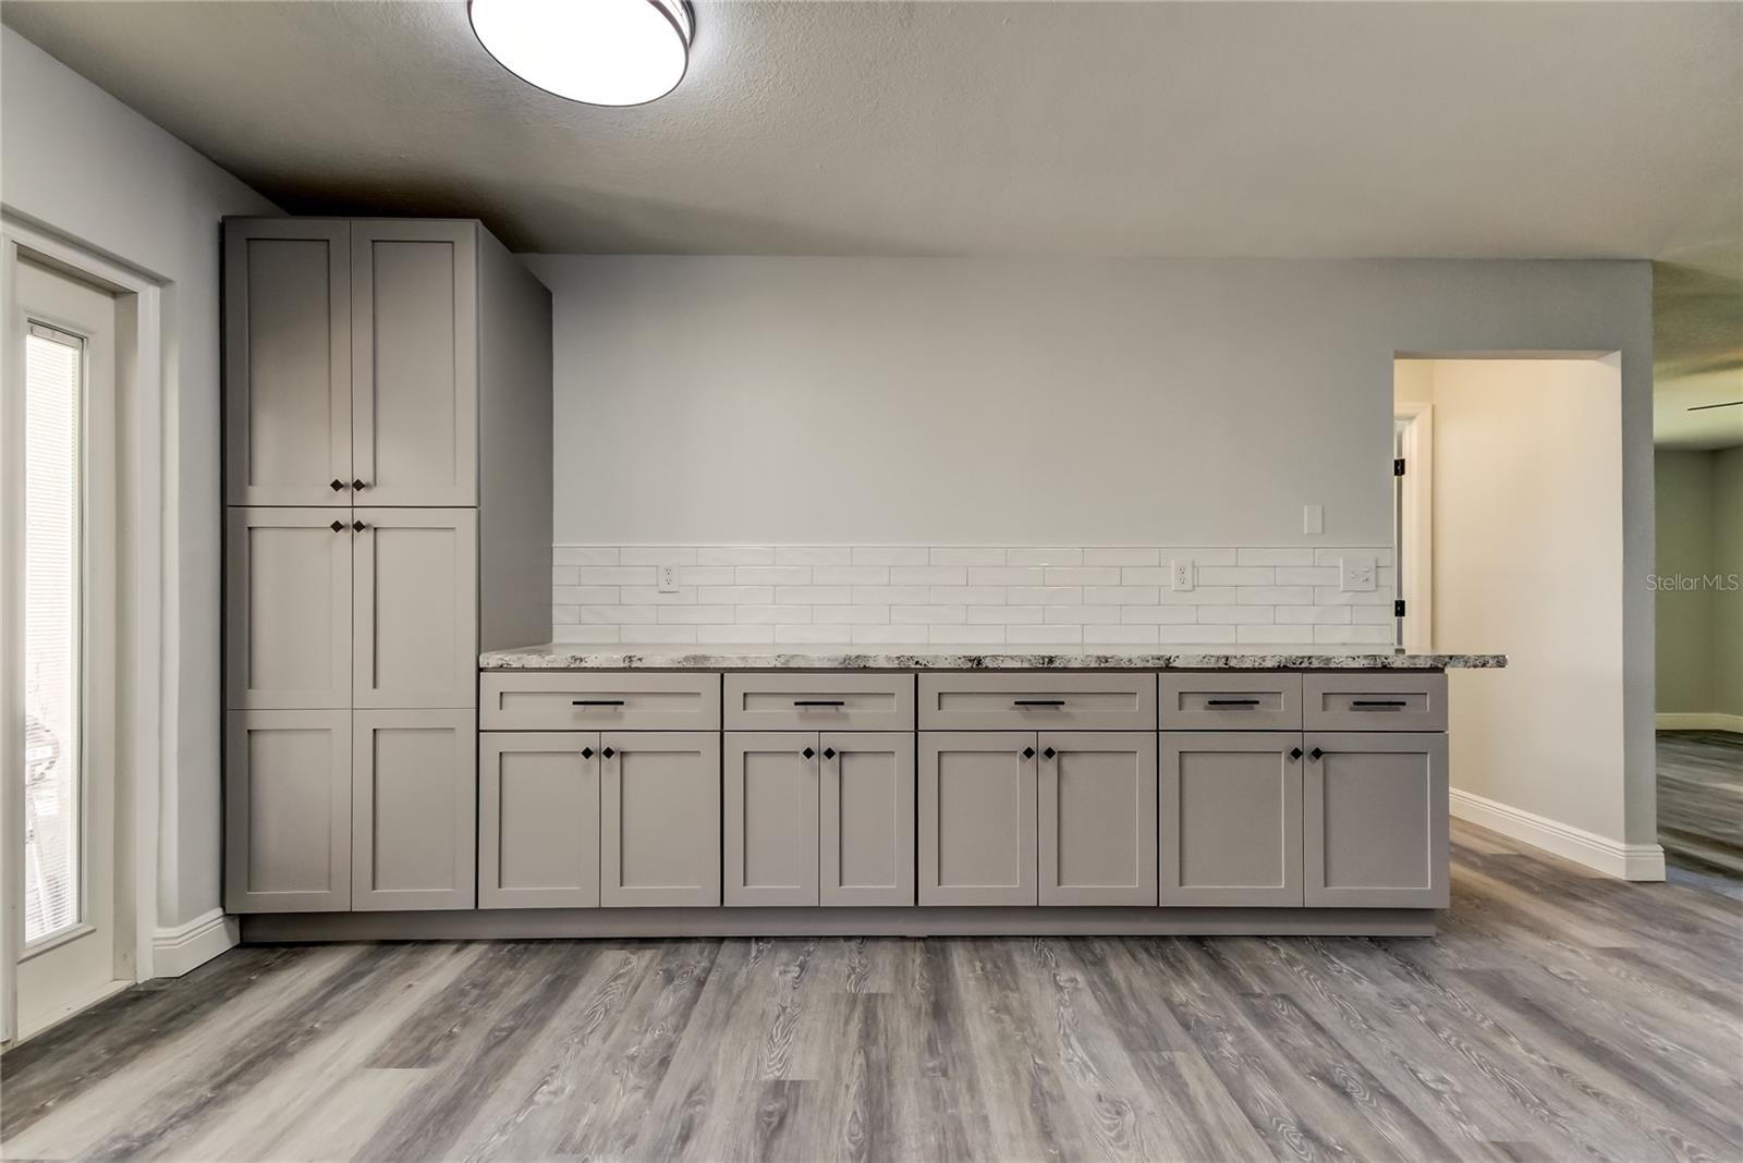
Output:
<svg viewBox="0 0 1743 1163">
<path fill-rule="evenodd" d="M 479 223 L 225 221 L 225 907 L 471 909 L 478 653 L 551 637 L 551 294 Z"/>
</svg>

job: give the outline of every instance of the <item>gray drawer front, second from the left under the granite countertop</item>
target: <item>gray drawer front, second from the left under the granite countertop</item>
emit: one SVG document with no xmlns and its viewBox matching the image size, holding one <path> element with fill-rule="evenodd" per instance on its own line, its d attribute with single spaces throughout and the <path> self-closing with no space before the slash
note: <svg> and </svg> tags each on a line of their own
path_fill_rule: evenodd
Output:
<svg viewBox="0 0 1743 1163">
<path fill-rule="evenodd" d="M 912 674 L 729 674 L 729 731 L 912 731 Z"/>
</svg>

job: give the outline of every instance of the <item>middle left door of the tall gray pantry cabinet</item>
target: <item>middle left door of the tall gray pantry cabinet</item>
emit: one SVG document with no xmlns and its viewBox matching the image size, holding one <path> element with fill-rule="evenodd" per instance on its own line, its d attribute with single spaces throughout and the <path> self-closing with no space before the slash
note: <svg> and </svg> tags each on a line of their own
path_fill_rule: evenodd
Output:
<svg viewBox="0 0 1743 1163">
<path fill-rule="evenodd" d="M 350 521 L 349 508 L 228 510 L 225 703 L 232 710 L 350 707 Z"/>
</svg>

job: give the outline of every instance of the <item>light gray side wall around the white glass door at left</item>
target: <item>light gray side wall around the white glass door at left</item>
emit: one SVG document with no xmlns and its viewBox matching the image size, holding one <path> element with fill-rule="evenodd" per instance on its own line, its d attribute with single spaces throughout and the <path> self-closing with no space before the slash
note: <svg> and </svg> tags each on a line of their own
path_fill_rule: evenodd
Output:
<svg viewBox="0 0 1743 1163">
<path fill-rule="evenodd" d="M 0 30 L 0 202 L 167 282 L 159 926 L 218 907 L 218 219 L 277 207 Z"/>
</svg>

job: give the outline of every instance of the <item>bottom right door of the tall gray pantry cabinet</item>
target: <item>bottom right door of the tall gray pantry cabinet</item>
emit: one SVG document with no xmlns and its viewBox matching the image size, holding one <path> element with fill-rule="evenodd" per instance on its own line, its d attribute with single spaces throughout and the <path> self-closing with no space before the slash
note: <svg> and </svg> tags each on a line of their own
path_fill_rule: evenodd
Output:
<svg viewBox="0 0 1743 1163">
<path fill-rule="evenodd" d="M 352 716 L 350 907 L 471 909 L 478 858 L 478 716 Z"/>
</svg>

